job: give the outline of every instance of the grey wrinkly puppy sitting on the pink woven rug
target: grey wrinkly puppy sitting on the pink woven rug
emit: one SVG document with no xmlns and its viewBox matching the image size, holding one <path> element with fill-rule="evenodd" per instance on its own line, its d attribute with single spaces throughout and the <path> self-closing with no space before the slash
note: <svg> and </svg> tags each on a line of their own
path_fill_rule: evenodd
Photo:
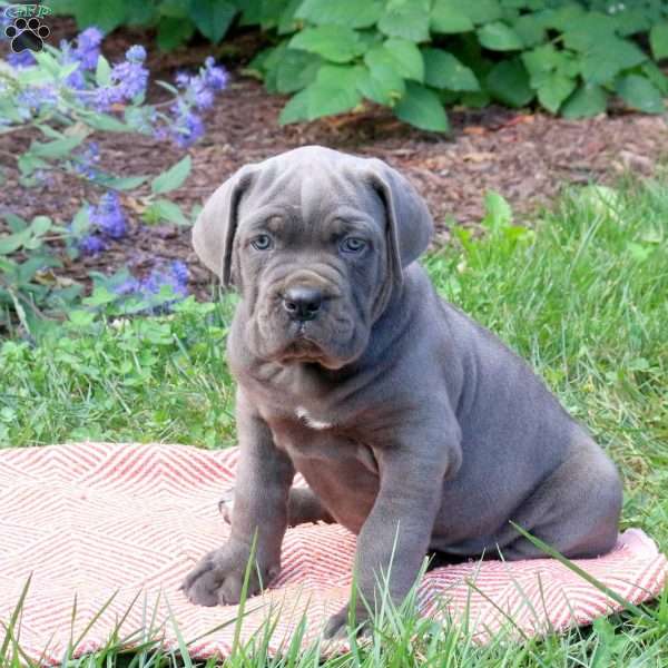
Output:
<svg viewBox="0 0 668 668">
<path fill-rule="evenodd" d="M 541 556 L 510 521 L 571 558 L 615 544 L 615 465 L 521 358 L 439 297 L 415 262 L 432 230 L 394 169 L 317 146 L 247 165 L 206 204 L 195 249 L 242 295 L 227 344 L 240 458 L 230 538 L 183 586 L 194 603 L 238 601 L 256 532 L 257 592 L 305 521 L 357 534 L 371 605 L 391 560 L 401 602 L 429 551 Z M 291 489 L 296 471 L 307 490 Z"/>
</svg>

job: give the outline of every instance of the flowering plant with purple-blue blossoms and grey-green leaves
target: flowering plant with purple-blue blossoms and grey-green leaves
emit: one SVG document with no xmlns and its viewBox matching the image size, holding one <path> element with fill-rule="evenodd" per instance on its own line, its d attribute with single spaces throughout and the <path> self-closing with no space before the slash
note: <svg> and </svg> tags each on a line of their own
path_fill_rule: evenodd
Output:
<svg viewBox="0 0 668 668">
<path fill-rule="evenodd" d="M 52 269 L 61 262 L 48 242 L 65 244 L 70 259 L 80 253 L 102 253 L 110 239 L 127 233 L 119 193 L 132 191 L 146 223 L 189 223 L 166 197 L 188 177 L 188 156 L 153 178 L 118 176 L 102 168 L 99 145 L 90 137 L 94 132 L 151 134 L 186 148 L 204 132 L 200 112 L 225 88 L 227 73 L 213 58 L 207 59 L 197 75 L 177 75 L 176 87 L 161 82 L 169 99 L 149 105 L 145 100 L 148 70 L 144 47 L 131 47 L 125 60 L 111 65 L 99 52 L 101 39 L 97 28 L 89 28 L 59 49 L 10 53 L 0 66 L 0 135 L 31 131 L 35 137 L 37 131 L 42 137 L 32 139 L 27 150 L 11 154 L 20 185 L 48 185 L 53 171 L 63 171 L 100 193 L 96 204 L 82 202 L 69 225 L 57 225 L 46 216 L 31 223 L 6 216 L 9 234 L 0 235 L 0 326 L 9 322 L 9 310 L 31 331 L 39 316 L 62 311 L 79 297 L 80 284 L 55 275 Z M 148 194 L 135 193 L 147 183 Z M 155 296 L 160 293 L 158 284 L 165 284 L 179 295 L 187 271 L 173 269 L 156 266 L 146 284 L 122 276 L 118 289 L 146 297 L 147 291 Z M 149 302 L 157 304 L 153 296 Z"/>
</svg>

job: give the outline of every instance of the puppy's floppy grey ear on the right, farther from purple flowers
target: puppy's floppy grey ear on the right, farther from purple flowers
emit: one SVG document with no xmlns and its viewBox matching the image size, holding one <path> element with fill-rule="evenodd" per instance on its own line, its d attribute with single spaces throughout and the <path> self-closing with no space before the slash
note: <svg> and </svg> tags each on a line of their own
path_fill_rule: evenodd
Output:
<svg viewBox="0 0 668 668">
<path fill-rule="evenodd" d="M 395 284 L 403 269 L 429 246 L 434 223 L 424 199 L 411 183 L 382 160 L 369 160 L 367 179 L 381 197 L 387 218 L 390 271 Z"/>
</svg>

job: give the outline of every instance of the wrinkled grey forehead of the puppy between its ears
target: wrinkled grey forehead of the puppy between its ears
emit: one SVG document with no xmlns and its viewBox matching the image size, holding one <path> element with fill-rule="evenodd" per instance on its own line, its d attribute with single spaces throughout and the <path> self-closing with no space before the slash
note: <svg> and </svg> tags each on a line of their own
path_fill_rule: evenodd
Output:
<svg viewBox="0 0 668 668">
<path fill-rule="evenodd" d="M 340 154 L 341 155 L 341 154 Z M 303 222 L 317 224 L 333 215 L 365 214 L 383 227 L 385 212 L 365 178 L 364 160 L 304 151 L 284 154 L 257 165 L 240 203 L 239 218 L 263 209 L 289 210 Z"/>
</svg>

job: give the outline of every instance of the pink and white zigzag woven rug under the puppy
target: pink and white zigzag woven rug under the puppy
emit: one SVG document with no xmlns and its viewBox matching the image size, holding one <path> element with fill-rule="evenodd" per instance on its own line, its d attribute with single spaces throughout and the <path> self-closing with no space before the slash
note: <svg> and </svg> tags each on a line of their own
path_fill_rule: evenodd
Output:
<svg viewBox="0 0 668 668">
<path fill-rule="evenodd" d="M 185 641 L 195 640 L 194 658 L 228 655 L 234 623 L 208 632 L 234 620 L 237 608 L 193 606 L 178 587 L 204 552 L 225 541 L 228 527 L 217 501 L 233 485 L 236 461 L 236 449 L 185 445 L 0 450 L 0 622 L 9 622 L 31 576 L 19 642 L 45 664 L 59 665 L 80 635 L 75 656 L 94 651 L 115 629 L 130 646 L 157 633 L 175 648 L 175 623 Z M 354 548 L 354 536 L 338 525 L 289 529 L 283 571 L 271 590 L 246 603 L 240 640 L 258 637 L 267 616 L 277 615 L 269 652 L 287 647 L 304 617 L 304 644 L 314 641 L 347 600 Z M 612 553 L 577 563 L 635 603 L 662 589 L 668 569 L 654 541 L 636 529 L 620 536 Z M 424 577 L 418 601 L 423 615 L 443 623 L 466 622 L 481 642 L 509 618 L 521 637 L 620 609 L 551 559 L 440 568 Z M 0 645 L 3 635 L 0 626 Z M 324 654 L 345 649 L 327 647 Z"/>
</svg>

